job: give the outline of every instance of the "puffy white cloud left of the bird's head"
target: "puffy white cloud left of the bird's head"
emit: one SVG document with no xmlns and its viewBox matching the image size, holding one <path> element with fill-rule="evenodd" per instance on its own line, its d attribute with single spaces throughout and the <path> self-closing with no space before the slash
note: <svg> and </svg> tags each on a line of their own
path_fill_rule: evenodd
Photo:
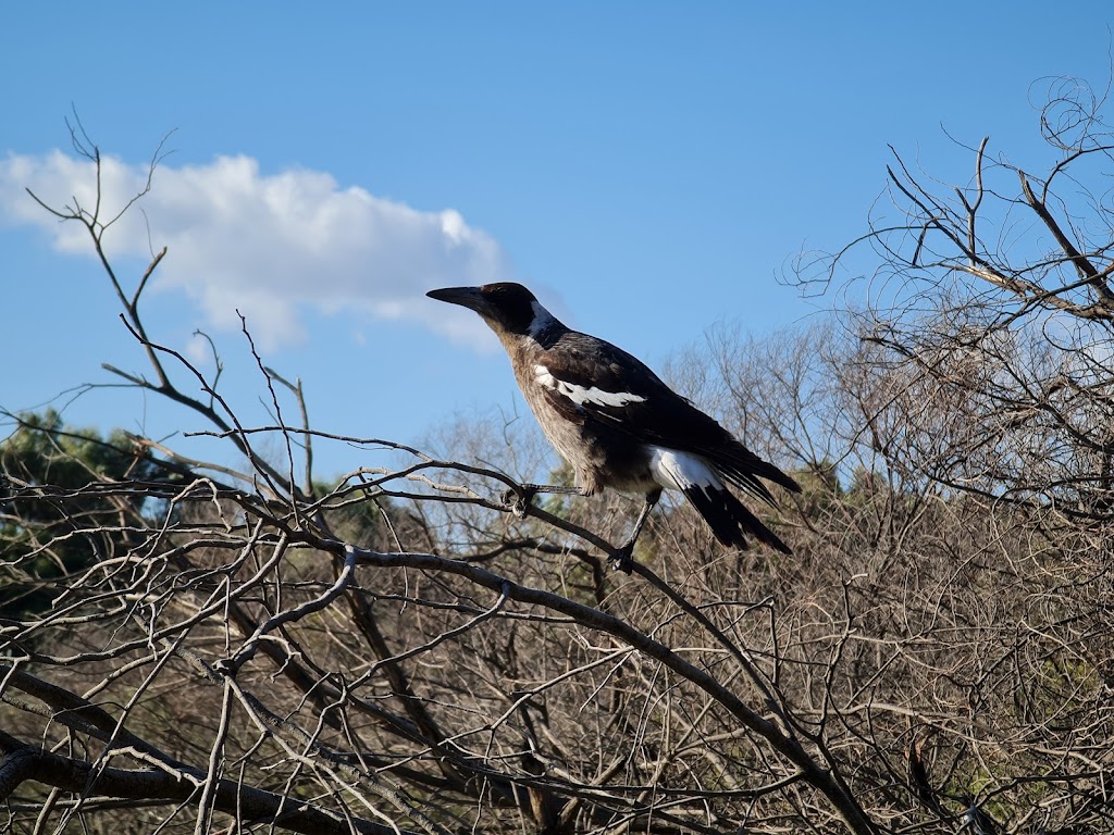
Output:
<svg viewBox="0 0 1114 835">
<path fill-rule="evenodd" d="M 139 193 L 145 165 L 106 157 L 101 218 Z M 25 191 L 50 206 L 91 209 L 91 161 L 60 151 L 0 159 L 0 220 L 33 225 L 52 246 L 91 255 L 86 230 L 59 223 Z M 421 323 L 453 340 L 490 346 L 475 314 L 424 297 L 433 287 L 506 281 L 509 267 L 490 235 L 453 209 L 420 212 L 363 188 L 341 188 L 328 174 L 260 173 L 251 157 L 208 165 L 163 163 L 153 188 L 105 236 L 110 257 L 166 259 L 153 289 L 180 289 L 199 306 L 204 327 L 236 328 L 238 308 L 264 347 L 305 337 L 299 311 L 363 313 Z"/>
</svg>

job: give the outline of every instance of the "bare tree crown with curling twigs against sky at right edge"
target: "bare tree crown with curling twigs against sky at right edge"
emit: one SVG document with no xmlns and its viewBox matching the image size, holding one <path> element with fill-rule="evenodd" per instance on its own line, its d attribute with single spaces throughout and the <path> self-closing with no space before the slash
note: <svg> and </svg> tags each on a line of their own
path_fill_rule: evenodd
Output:
<svg viewBox="0 0 1114 835">
<path fill-rule="evenodd" d="M 848 312 L 878 375 L 876 422 L 902 391 L 950 415 L 895 450 L 906 470 L 1024 505 L 1045 524 L 1096 530 L 1114 521 L 1114 132 L 1104 105 L 1076 79 L 1048 84 L 1039 174 L 993 156 L 989 138 L 969 149 L 973 174 L 957 185 L 895 153 L 870 232 L 799 274 L 827 283 L 856 247 L 877 256 L 862 305 Z"/>
</svg>

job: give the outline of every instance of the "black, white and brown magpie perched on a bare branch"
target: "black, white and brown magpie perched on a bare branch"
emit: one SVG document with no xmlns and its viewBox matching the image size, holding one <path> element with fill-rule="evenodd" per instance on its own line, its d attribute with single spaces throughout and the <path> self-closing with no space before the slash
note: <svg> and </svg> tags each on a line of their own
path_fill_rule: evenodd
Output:
<svg viewBox="0 0 1114 835">
<path fill-rule="evenodd" d="M 663 490 L 676 490 L 715 538 L 745 550 L 747 538 L 790 548 L 732 493 L 776 507 L 763 480 L 801 488 L 762 460 L 635 356 L 602 338 L 567 327 L 521 284 L 444 287 L 430 298 L 475 311 L 510 357 L 515 379 L 543 433 L 569 463 L 575 488 L 521 484 L 522 508 L 536 493 L 594 495 L 610 489 L 641 494 L 634 528 L 609 559 L 629 573 L 634 546 Z"/>
</svg>

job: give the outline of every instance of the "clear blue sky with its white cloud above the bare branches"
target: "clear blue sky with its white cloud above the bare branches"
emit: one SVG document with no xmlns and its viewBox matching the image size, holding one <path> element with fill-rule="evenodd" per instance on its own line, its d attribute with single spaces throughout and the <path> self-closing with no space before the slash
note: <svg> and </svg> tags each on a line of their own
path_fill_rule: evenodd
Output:
<svg viewBox="0 0 1114 835">
<path fill-rule="evenodd" d="M 143 357 L 91 249 L 29 204 L 88 189 L 77 109 L 123 199 L 175 131 L 154 189 L 106 238 L 125 284 L 169 247 L 152 334 L 213 336 L 245 414 L 264 358 L 315 428 L 420 441 L 512 413 L 479 321 L 433 286 L 515 279 L 570 325 L 661 366 L 717 322 L 819 315 L 776 276 L 861 234 L 887 146 L 962 180 L 945 137 L 1044 160 L 1030 85 L 1110 76 L 1114 12 L 1047 3 L 22 3 L 0 26 L 0 405 L 167 436 L 192 419 L 119 389 Z M 60 151 L 60 153 L 56 153 Z M 115 190 L 114 190 L 115 189 Z M 861 263 L 868 272 L 871 264 Z M 852 272 L 857 268 L 852 262 Z M 459 314 L 459 315 L 458 315 Z M 261 419 L 262 420 L 262 419 Z M 319 472 L 364 463 L 322 453 Z"/>
</svg>

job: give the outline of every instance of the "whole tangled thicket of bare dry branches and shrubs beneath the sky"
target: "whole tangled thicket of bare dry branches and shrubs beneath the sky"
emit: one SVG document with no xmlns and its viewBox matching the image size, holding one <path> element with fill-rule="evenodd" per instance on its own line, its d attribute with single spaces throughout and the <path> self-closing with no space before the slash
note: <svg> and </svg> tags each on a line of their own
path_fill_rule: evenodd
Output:
<svg viewBox="0 0 1114 835">
<path fill-rule="evenodd" d="M 144 326 L 165 253 L 129 284 L 106 218 L 48 209 L 144 353 L 115 373 L 244 465 L 10 415 L 2 831 L 1114 828 L 1112 143 L 1086 88 L 1051 92 L 1043 177 L 986 143 L 959 187 L 899 159 L 853 307 L 674 364 L 804 484 L 772 520 L 794 556 L 665 507 L 629 577 L 632 502 L 500 503 L 529 438 L 339 439 L 262 362 L 274 421 L 243 425 Z M 324 443 L 354 468 L 330 487 Z"/>
</svg>

